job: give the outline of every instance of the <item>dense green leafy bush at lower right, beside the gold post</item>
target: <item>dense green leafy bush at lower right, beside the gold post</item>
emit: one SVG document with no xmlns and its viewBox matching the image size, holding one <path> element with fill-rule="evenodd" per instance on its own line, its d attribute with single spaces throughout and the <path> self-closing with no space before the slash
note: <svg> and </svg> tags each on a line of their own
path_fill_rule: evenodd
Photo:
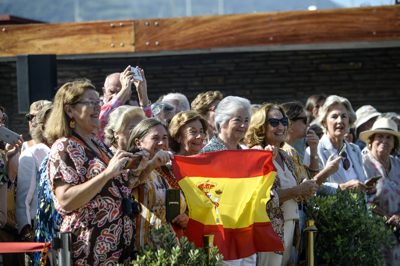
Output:
<svg viewBox="0 0 400 266">
<path fill-rule="evenodd" d="M 389 238 L 393 231 L 386 230 L 386 218 L 366 209 L 364 193 L 322 193 L 310 198 L 305 210 L 320 232 L 319 265 L 383 265 L 382 244 L 396 243 Z"/>
</svg>

